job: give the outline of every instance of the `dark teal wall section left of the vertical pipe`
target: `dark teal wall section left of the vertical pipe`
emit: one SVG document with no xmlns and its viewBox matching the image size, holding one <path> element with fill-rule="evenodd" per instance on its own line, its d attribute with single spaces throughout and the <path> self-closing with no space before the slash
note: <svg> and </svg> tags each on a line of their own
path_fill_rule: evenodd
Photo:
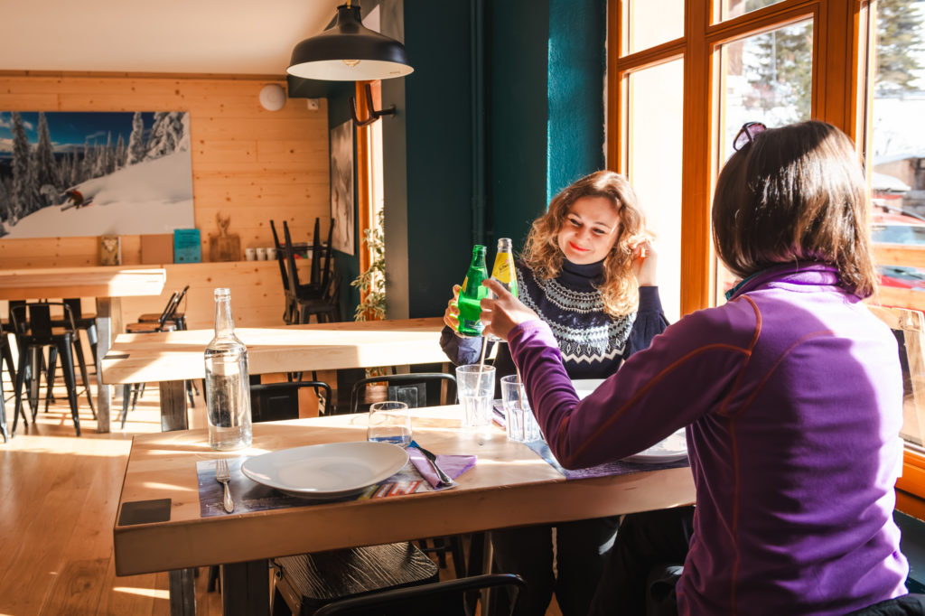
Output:
<svg viewBox="0 0 925 616">
<path fill-rule="evenodd" d="M 443 314 L 472 255 L 470 10 L 467 0 L 404 0 L 411 317 Z"/>
</svg>

